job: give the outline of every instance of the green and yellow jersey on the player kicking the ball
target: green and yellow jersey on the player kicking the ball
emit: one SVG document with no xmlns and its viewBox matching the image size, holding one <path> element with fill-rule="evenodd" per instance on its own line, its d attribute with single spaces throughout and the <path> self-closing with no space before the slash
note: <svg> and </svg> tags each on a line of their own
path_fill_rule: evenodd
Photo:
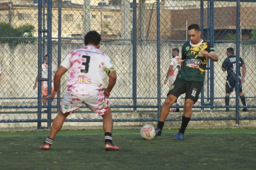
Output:
<svg viewBox="0 0 256 170">
<path fill-rule="evenodd" d="M 214 52 L 214 48 L 209 42 L 201 41 L 194 45 L 190 41 L 186 42 L 182 47 L 181 61 L 183 67 L 178 78 L 185 81 L 198 81 L 203 83 L 205 79 L 205 69 L 207 65 L 207 57 L 203 57 L 200 52 Z"/>
</svg>

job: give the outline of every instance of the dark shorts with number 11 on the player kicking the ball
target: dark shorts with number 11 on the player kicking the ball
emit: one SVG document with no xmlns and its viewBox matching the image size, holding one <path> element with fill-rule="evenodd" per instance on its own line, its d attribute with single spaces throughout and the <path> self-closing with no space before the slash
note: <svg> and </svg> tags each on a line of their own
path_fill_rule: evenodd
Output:
<svg viewBox="0 0 256 170">
<path fill-rule="evenodd" d="M 196 101 L 198 101 L 198 97 L 202 87 L 203 87 L 203 84 L 198 81 L 188 82 L 183 79 L 176 78 L 167 96 L 169 94 L 172 94 L 178 98 L 181 94 L 186 93 L 185 100 L 189 98 L 193 100 L 194 103 L 196 103 Z"/>
</svg>

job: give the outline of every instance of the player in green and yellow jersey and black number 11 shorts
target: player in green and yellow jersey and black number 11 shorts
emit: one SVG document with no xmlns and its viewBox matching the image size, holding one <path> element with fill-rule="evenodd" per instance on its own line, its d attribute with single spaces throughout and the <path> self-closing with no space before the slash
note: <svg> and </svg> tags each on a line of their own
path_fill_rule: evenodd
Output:
<svg viewBox="0 0 256 170">
<path fill-rule="evenodd" d="M 203 87 L 207 58 L 218 61 L 218 56 L 211 44 L 201 39 L 201 31 L 198 24 L 188 26 L 188 36 L 190 41 L 186 42 L 182 47 L 181 72 L 171 86 L 164 105 L 162 105 L 160 119 L 155 128 L 156 136 L 162 134 L 164 121 L 169 114 L 171 105 L 181 94 L 185 93 L 181 128 L 174 137 L 174 140 L 183 140 L 185 129 L 192 116 L 192 107 L 198 100 Z"/>
</svg>

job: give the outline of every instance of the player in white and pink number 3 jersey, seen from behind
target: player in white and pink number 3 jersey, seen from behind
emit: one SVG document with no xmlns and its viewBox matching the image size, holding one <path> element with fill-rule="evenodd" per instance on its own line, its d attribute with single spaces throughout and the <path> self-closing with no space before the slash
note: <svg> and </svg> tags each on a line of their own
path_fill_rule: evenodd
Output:
<svg viewBox="0 0 256 170">
<path fill-rule="evenodd" d="M 50 149 L 53 138 L 60 131 L 63 122 L 70 113 L 82 105 L 98 113 L 103 118 L 105 132 L 105 150 L 119 150 L 112 142 L 113 120 L 107 98 L 115 85 L 117 74 L 108 55 L 99 50 L 101 36 L 96 31 L 85 35 L 85 47 L 70 52 L 60 64 L 54 76 L 54 92 L 47 98 L 54 98 L 62 75 L 69 71 L 67 92 L 61 104 L 61 109 L 53 121 L 49 136 L 39 147 Z M 107 88 L 102 88 L 104 71 L 109 76 Z"/>
</svg>

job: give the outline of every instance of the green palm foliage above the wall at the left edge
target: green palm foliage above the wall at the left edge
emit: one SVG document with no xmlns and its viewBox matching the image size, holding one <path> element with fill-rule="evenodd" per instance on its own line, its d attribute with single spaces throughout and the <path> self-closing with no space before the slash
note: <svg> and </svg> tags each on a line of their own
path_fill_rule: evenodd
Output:
<svg viewBox="0 0 256 170">
<path fill-rule="evenodd" d="M 0 22 L 0 43 L 8 43 L 10 48 L 15 48 L 18 44 L 36 43 L 37 39 L 33 38 L 35 31 L 35 27 L 30 24 L 14 27 Z"/>
</svg>

